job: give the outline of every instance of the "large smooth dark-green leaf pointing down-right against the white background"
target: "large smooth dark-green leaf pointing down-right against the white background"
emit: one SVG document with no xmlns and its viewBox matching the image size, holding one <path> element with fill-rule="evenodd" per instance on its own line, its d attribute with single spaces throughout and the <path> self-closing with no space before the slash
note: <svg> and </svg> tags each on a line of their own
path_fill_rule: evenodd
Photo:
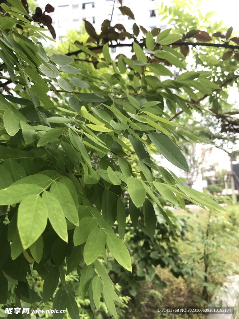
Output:
<svg viewBox="0 0 239 319">
<path fill-rule="evenodd" d="M 156 149 L 172 164 L 182 168 L 186 172 L 190 172 L 184 155 L 169 137 L 163 134 L 154 133 L 150 134 L 149 138 L 155 145 Z"/>
</svg>

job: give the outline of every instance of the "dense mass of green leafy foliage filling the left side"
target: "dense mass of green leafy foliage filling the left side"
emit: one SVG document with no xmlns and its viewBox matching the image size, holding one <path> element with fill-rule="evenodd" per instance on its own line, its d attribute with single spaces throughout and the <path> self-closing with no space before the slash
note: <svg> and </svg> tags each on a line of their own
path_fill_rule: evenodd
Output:
<svg viewBox="0 0 239 319">
<path fill-rule="evenodd" d="M 189 170 L 178 141 L 185 136 L 196 142 L 200 139 L 172 122 L 176 108 L 191 115 L 192 109 L 198 108 L 192 98 L 205 94 L 205 84 L 208 95 L 220 87 L 210 84 L 210 72 L 190 72 L 179 80 L 163 81 L 151 72 L 171 76 L 161 63 L 181 69 L 186 66 L 184 56 L 167 47 L 180 38 L 170 30 L 152 30 L 150 34 L 141 27 L 147 33 L 146 48 L 144 39 L 134 41 L 135 56 L 121 56 L 116 63 L 108 42 L 118 40 L 121 33 L 108 27 L 105 20 L 102 29 L 108 28 L 110 33 L 104 29 L 98 35 L 85 21 L 90 35 L 86 45 L 74 43 L 78 49 L 74 54 L 48 55 L 38 40 L 45 37 L 42 25 L 55 36 L 45 14 L 54 8 L 48 4 L 44 12 L 36 9 L 33 21 L 39 27 L 31 23 L 22 2 L 9 3 L 5 7 L 9 16 L 5 12 L 0 18 L 0 70 L 8 72 L 9 78 L 2 78 L 12 83 L 10 88 L 1 82 L 6 94 L 0 94 L 1 302 L 10 303 L 6 300 L 7 282 L 14 283 L 14 306 L 21 307 L 20 300 L 48 302 L 54 296 L 53 308 L 67 308 L 71 318 L 79 318 L 80 303 L 67 280 L 76 270 L 79 299 L 89 297 L 92 311 L 103 300 L 106 311 L 117 318 L 117 304 L 123 302 L 106 264 L 110 256 L 116 266 L 127 270 L 126 276 L 131 276 L 131 257 L 122 240 L 126 210 L 134 228 L 143 211 L 146 228 L 141 216 L 137 232 L 149 237 L 145 255 L 142 246 L 138 249 L 141 257 L 147 258 L 148 268 L 147 276 L 142 274 L 143 267 L 136 275 L 150 280 L 155 278 L 152 265 L 158 262 L 158 254 L 162 266 L 171 265 L 175 276 L 184 273 L 177 251 L 172 248 L 169 256 L 163 256 L 165 248 L 159 237 L 163 232 L 170 246 L 178 226 L 159 194 L 183 209 L 186 199 L 200 207 L 222 210 L 152 160 L 152 154 L 160 152 L 177 167 Z M 120 10 L 134 19 L 129 8 Z M 138 33 L 136 26 L 134 32 Z M 203 34 L 197 33 L 195 38 L 200 40 Z M 127 33 L 121 36 L 123 40 L 131 38 Z M 90 41 L 104 46 L 95 53 Z M 78 59 L 78 54 L 83 59 Z M 154 63 L 152 70 L 150 62 Z M 136 171 L 135 164 L 139 167 Z M 129 203 L 123 207 L 127 194 Z M 158 223 L 160 219 L 168 226 Z M 133 228 L 130 231 L 134 232 Z M 37 280 L 44 281 L 41 289 L 33 281 L 37 274 Z M 62 317 L 54 314 L 54 319 Z"/>
</svg>

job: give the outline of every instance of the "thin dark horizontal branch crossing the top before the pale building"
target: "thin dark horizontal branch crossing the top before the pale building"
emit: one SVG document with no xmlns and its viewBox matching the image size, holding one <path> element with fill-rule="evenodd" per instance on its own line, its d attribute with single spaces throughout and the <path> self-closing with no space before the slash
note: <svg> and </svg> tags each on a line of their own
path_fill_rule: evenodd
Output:
<svg viewBox="0 0 239 319">
<path fill-rule="evenodd" d="M 144 47 L 145 44 L 144 43 L 139 43 L 139 45 L 141 47 Z M 174 42 L 170 45 L 174 45 L 174 46 L 192 46 L 192 47 L 197 47 L 197 46 L 202 46 L 202 47 L 215 47 L 215 48 L 228 48 L 228 49 L 238 49 L 239 50 L 239 45 L 230 45 L 228 43 L 207 43 L 207 42 Z M 109 44 L 109 48 L 120 48 L 120 47 L 132 47 L 133 46 L 133 42 L 132 43 L 117 43 L 117 44 Z M 103 45 L 98 45 L 97 47 L 92 47 L 92 48 L 88 48 L 91 51 L 95 51 L 95 50 L 100 50 L 103 48 Z M 84 52 L 83 50 L 77 50 L 74 52 L 69 52 L 66 55 L 67 56 L 73 56 L 73 55 L 77 55 L 79 53 Z"/>
</svg>

